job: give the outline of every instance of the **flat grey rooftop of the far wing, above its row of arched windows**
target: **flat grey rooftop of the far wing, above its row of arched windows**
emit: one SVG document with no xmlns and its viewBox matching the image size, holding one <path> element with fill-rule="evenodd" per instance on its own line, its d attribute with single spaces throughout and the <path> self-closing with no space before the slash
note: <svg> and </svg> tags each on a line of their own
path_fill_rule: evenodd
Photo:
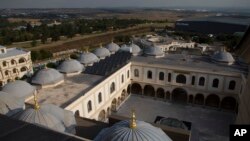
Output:
<svg viewBox="0 0 250 141">
<path fill-rule="evenodd" d="M 168 68 L 173 68 L 175 70 L 187 70 L 192 71 L 205 71 L 205 72 L 218 72 L 223 74 L 247 74 L 248 68 L 240 66 L 238 64 L 234 65 L 223 65 L 212 62 L 209 56 L 199 56 L 199 55 L 182 55 L 182 54 L 165 54 L 165 57 L 155 58 L 155 57 L 145 57 L 145 56 L 135 56 L 131 59 L 132 64 L 143 64 L 147 65 L 163 65 Z"/>
</svg>

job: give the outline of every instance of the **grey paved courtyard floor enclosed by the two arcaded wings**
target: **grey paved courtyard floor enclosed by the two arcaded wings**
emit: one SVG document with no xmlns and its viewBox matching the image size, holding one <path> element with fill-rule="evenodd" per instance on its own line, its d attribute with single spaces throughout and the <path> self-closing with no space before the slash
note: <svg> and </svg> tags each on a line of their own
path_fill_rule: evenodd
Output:
<svg viewBox="0 0 250 141">
<path fill-rule="evenodd" d="M 129 116 L 134 108 L 138 120 L 154 122 L 156 116 L 192 122 L 191 141 L 228 141 L 229 125 L 235 114 L 211 108 L 181 105 L 131 95 L 117 114 Z"/>
</svg>

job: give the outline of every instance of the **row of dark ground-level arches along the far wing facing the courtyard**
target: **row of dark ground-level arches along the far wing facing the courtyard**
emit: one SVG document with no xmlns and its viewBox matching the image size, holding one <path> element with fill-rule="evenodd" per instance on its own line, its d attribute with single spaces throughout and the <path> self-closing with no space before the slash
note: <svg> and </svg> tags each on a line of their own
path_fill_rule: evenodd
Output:
<svg viewBox="0 0 250 141">
<path fill-rule="evenodd" d="M 130 89 L 130 88 L 129 88 Z M 202 93 L 188 94 L 183 88 L 175 88 L 172 92 L 165 91 L 164 88 L 154 88 L 151 85 L 142 87 L 138 83 L 131 85 L 132 94 L 137 94 L 145 97 L 153 97 L 159 100 L 170 100 L 177 103 L 190 103 L 208 107 L 216 107 L 227 110 L 237 110 L 237 100 L 234 97 L 227 96 L 220 99 L 216 94 L 205 96 Z"/>
</svg>

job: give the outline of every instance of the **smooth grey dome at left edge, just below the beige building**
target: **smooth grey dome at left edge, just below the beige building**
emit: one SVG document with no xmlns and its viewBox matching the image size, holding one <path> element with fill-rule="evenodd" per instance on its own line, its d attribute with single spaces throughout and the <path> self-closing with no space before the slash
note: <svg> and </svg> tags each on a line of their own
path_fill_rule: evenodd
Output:
<svg viewBox="0 0 250 141">
<path fill-rule="evenodd" d="M 35 87 L 21 80 L 16 80 L 4 85 L 2 91 L 13 95 L 16 98 L 25 99 L 35 93 Z"/>
</svg>

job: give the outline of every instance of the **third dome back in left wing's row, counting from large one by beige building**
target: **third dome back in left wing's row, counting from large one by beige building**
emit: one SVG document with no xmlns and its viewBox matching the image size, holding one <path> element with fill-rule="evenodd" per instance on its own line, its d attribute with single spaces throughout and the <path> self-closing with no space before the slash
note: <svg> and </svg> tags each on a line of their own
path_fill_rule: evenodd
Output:
<svg viewBox="0 0 250 141">
<path fill-rule="evenodd" d="M 91 52 L 84 52 L 80 55 L 79 59 L 80 63 L 83 65 L 91 65 L 95 62 L 98 62 L 100 59 L 93 53 Z"/>
</svg>

